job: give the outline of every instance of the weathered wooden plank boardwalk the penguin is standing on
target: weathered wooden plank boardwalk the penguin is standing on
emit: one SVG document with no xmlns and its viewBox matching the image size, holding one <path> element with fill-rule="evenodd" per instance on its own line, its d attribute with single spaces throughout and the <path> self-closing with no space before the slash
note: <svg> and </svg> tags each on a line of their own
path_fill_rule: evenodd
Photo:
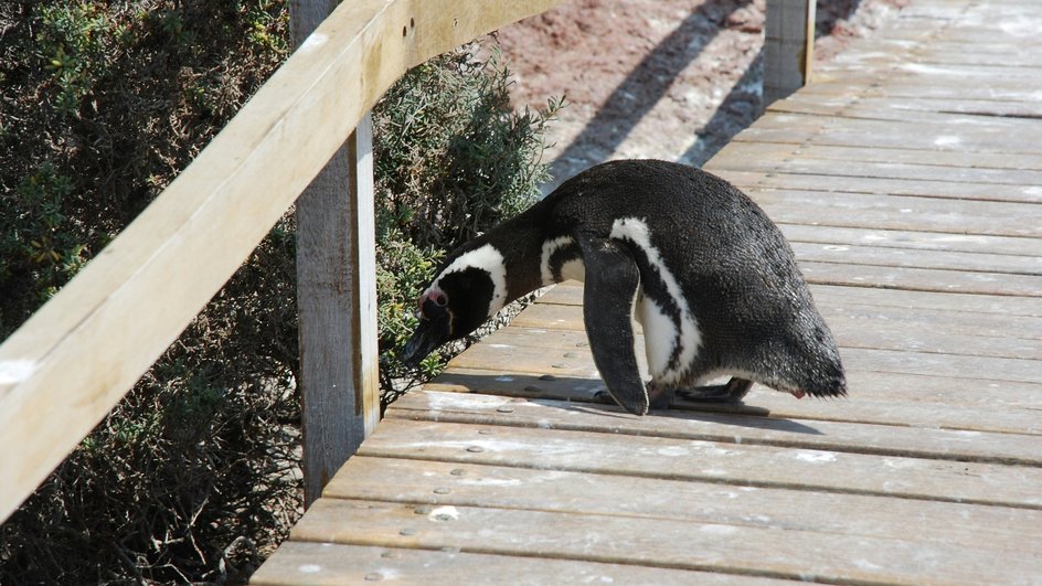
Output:
<svg viewBox="0 0 1042 586">
<path fill-rule="evenodd" d="M 791 241 L 849 399 L 593 403 L 565 284 L 394 404 L 253 582 L 1042 583 L 1039 30 L 913 0 L 706 166 Z"/>
</svg>

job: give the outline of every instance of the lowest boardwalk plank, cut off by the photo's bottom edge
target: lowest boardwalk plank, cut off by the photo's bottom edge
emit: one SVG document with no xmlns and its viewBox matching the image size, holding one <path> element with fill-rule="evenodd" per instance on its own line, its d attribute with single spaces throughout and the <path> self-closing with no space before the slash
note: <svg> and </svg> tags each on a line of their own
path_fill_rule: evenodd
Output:
<svg viewBox="0 0 1042 586">
<path fill-rule="evenodd" d="M 791 584 L 788 580 L 580 560 L 288 541 L 249 577 L 255 586 L 404 584 Z"/>
</svg>

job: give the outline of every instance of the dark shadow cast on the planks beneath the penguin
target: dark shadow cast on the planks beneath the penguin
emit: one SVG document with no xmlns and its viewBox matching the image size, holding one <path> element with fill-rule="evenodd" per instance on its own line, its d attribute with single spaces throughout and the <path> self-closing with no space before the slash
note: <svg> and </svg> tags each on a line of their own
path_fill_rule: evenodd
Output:
<svg viewBox="0 0 1042 586">
<path fill-rule="evenodd" d="M 606 395 L 604 382 L 599 379 L 574 376 L 547 376 L 536 374 L 462 374 L 443 373 L 433 381 L 436 386 L 451 387 L 476 394 L 499 395 L 523 398 L 528 402 L 566 412 L 596 414 L 603 417 L 634 420 L 635 416 L 624 411 L 610 399 L 600 399 Z M 751 395 L 755 402 L 755 394 Z M 825 435 L 820 430 L 784 417 L 770 417 L 770 411 L 754 404 L 702 404 L 687 402 L 668 409 L 652 409 L 641 419 L 655 418 L 687 419 L 713 423 L 727 427 L 764 429 L 789 434 Z"/>
</svg>

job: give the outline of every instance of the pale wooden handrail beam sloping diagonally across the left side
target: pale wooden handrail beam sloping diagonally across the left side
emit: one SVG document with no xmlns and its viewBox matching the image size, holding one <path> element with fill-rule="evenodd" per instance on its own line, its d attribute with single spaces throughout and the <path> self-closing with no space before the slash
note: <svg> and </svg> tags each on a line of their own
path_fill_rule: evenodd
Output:
<svg viewBox="0 0 1042 586">
<path fill-rule="evenodd" d="M 340 3 L 192 164 L 0 347 L 0 443 L 22 446 L 0 460 L 0 519 L 177 338 L 407 67 L 556 3 Z"/>
</svg>

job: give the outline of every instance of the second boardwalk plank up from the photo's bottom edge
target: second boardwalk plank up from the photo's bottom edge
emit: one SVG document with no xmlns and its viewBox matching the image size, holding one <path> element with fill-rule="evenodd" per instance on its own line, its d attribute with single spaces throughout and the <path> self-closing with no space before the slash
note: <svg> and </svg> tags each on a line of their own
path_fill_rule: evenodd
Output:
<svg viewBox="0 0 1042 586">
<path fill-rule="evenodd" d="M 818 582 L 1013 582 L 1042 572 L 1038 553 L 1003 556 L 947 543 L 818 532 L 454 507 L 322 499 L 294 528 L 304 541 L 528 555 Z M 421 512 L 426 509 L 421 509 Z M 547 531 L 547 528 L 553 528 Z"/>
</svg>

